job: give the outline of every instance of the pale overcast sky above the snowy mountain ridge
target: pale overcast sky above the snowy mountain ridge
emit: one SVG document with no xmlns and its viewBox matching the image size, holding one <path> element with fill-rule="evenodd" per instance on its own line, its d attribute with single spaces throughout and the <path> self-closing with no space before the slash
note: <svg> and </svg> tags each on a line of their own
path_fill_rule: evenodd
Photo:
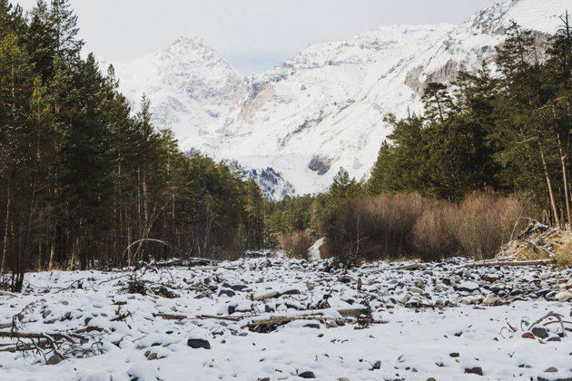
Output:
<svg viewBox="0 0 572 381">
<path fill-rule="evenodd" d="M 35 0 L 15 0 L 26 8 Z M 390 24 L 459 24 L 493 0 L 72 0 L 86 49 L 128 62 L 201 36 L 242 73 Z"/>
</svg>

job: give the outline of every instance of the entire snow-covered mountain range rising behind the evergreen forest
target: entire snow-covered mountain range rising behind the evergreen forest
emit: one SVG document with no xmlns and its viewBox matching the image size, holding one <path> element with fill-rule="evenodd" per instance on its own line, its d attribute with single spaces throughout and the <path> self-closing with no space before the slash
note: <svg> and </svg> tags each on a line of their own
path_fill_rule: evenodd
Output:
<svg viewBox="0 0 572 381">
<path fill-rule="evenodd" d="M 458 26 L 396 25 L 311 45 L 248 77 L 200 39 L 115 66 L 123 93 L 133 103 L 146 93 L 183 150 L 238 161 L 259 182 L 271 170 L 281 197 L 325 189 L 340 166 L 367 177 L 390 133 L 387 113 L 419 111 L 427 83 L 492 61 L 511 21 L 547 39 L 567 9 L 572 0 L 502 0 Z"/>
</svg>

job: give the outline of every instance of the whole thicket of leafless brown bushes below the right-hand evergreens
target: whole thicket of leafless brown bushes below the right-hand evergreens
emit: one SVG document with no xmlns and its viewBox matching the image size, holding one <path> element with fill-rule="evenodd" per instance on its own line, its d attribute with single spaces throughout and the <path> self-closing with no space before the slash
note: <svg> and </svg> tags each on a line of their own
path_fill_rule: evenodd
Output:
<svg viewBox="0 0 572 381">
<path fill-rule="evenodd" d="M 353 200 L 338 210 L 325 231 L 327 252 L 345 263 L 490 259 L 536 215 L 524 198 L 490 192 L 472 193 L 459 204 L 416 193 Z"/>
</svg>

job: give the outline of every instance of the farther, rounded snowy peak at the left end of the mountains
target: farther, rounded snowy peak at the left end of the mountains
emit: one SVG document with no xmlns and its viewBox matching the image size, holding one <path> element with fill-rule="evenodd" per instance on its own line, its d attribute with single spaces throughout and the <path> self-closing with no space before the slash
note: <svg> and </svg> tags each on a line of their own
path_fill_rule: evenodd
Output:
<svg viewBox="0 0 572 381">
<path fill-rule="evenodd" d="M 137 106 L 145 94 L 153 122 L 171 128 L 184 150 L 200 149 L 197 138 L 210 133 L 245 93 L 242 74 L 198 37 L 179 38 L 158 52 L 113 66 L 130 102 Z"/>
</svg>

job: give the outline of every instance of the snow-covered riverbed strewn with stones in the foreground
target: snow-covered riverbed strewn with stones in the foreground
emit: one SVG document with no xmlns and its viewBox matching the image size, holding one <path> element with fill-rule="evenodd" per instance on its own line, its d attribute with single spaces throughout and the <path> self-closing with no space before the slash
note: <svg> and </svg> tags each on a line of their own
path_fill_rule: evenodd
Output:
<svg viewBox="0 0 572 381">
<path fill-rule="evenodd" d="M 20 333 L 94 327 L 79 347 L 103 353 L 45 365 L 54 360 L 49 350 L 45 357 L 0 352 L 0 380 L 572 379 L 572 332 L 563 337 L 555 324 L 546 327 L 547 337 L 526 338 L 521 324 L 549 311 L 572 320 L 572 271 L 463 263 L 417 270 L 375 263 L 342 274 L 326 261 L 247 259 L 139 270 L 145 296 L 125 291 L 124 272 L 29 274 L 25 295 L 0 294 L 0 332 L 10 332 L 13 322 Z M 273 291 L 274 298 L 252 301 Z M 364 305 L 372 322 L 336 312 Z M 322 318 L 261 329 L 268 333 L 249 329 L 259 318 L 310 309 Z M 192 348 L 189 339 L 211 348 Z M 0 350 L 14 344 L 0 338 Z M 466 373 L 478 368 L 483 376 Z"/>
</svg>

